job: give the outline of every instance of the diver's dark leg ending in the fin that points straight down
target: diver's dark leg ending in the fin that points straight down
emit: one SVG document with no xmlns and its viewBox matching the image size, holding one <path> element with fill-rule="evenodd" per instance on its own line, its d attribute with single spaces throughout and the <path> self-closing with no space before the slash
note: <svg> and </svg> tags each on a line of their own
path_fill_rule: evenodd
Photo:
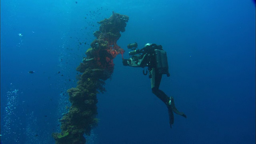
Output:
<svg viewBox="0 0 256 144">
<path fill-rule="evenodd" d="M 151 74 L 152 74 L 152 78 L 150 78 L 150 81 L 151 81 L 152 92 L 160 100 L 162 100 L 162 102 L 166 104 L 168 108 L 168 114 L 169 114 L 169 123 L 170 123 L 170 127 L 172 128 L 172 124 L 174 123 L 174 116 L 172 112 L 172 106 L 169 105 L 170 98 L 162 90 L 159 90 L 162 74 L 158 74 L 158 72 L 156 72 L 154 68 L 151 70 Z"/>
</svg>

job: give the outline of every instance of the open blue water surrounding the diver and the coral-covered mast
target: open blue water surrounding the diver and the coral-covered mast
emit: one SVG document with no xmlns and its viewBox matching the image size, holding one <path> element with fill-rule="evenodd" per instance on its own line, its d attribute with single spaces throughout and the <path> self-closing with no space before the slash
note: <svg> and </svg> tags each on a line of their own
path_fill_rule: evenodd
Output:
<svg viewBox="0 0 256 144">
<path fill-rule="evenodd" d="M 118 40 L 125 58 L 133 42 L 166 50 L 160 89 L 187 119 L 175 114 L 170 129 L 148 76 L 119 55 L 88 143 L 255 144 L 255 1 L 1 0 L 3 144 L 54 144 L 76 67 L 112 11 L 130 17 Z"/>
</svg>

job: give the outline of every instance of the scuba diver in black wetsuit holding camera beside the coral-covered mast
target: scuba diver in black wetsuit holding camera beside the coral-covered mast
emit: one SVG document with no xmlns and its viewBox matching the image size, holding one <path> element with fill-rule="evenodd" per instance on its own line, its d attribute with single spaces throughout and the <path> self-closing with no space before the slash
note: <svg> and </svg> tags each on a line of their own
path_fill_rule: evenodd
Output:
<svg viewBox="0 0 256 144">
<path fill-rule="evenodd" d="M 123 59 L 124 66 L 132 67 L 142 67 L 144 68 L 143 74 L 147 75 L 149 73 L 149 78 L 151 81 L 151 89 L 153 94 L 155 94 L 168 108 L 170 127 L 174 123 L 173 112 L 187 118 L 183 112 L 179 112 L 174 104 L 174 98 L 170 98 L 162 91 L 159 90 L 162 75 L 166 74 L 170 76 L 168 71 L 168 62 L 166 52 L 162 49 L 161 45 L 156 44 L 145 44 L 144 48 L 136 50 L 138 44 L 128 44 L 127 47 L 133 51 L 129 52 L 129 59 Z M 148 67 L 145 72 L 145 67 Z"/>
</svg>

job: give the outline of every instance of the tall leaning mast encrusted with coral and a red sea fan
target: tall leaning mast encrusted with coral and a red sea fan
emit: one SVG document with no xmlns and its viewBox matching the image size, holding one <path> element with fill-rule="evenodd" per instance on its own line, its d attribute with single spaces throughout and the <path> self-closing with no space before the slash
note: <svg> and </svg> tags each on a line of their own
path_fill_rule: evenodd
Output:
<svg viewBox="0 0 256 144">
<path fill-rule="evenodd" d="M 56 144 L 85 144 L 84 134 L 90 135 L 92 128 L 97 126 L 98 90 L 104 92 L 104 81 L 110 78 L 114 70 L 113 59 L 124 50 L 116 44 L 120 32 L 125 31 L 129 17 L 115 14 L 98 22 L 100 30 L 94 32 L 96 39 L 86 51 L 87 58 L 76 68 L 83 73 L 76 88 L 67 92 L 72 104 L 61 120 L 61 132 L 53 133 Z"/>
</svg>

